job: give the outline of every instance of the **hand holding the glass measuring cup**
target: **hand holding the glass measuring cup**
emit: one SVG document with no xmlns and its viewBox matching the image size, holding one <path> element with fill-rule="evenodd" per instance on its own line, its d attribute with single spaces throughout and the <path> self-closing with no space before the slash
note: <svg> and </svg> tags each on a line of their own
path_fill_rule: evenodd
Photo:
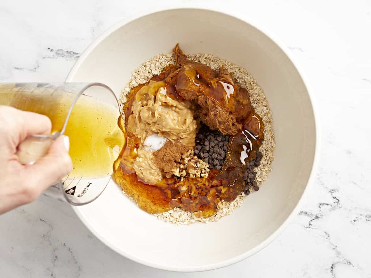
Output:
<svg viewBox="0 0 371 278">
<path fill-rule="evenodd" d="M 0 214 L 34 201 L 72 170 L 67 136 L 59 136 L 35 164 L 19 163 L 17 146 L 30 135 L 50 134 L 51 128 L 44 115 L 0 105 Z"/>
</svg>

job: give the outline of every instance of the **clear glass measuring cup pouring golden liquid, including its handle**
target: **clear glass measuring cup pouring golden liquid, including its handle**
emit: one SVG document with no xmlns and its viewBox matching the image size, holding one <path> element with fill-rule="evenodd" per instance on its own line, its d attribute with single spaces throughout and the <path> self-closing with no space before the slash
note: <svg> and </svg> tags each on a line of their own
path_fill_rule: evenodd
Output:
<svg viewBox="0 0 371 278">
<path fill-rule="evenodd" d="M 72 205 L 92 202 L 104 191 L 125 144 L 122 116 L 112 90 L 102 83 L 0 83 L 0 105 L 46 115 L 51 135 L 33 135 L 18 147 L 19 161 L 33 164 L 60 135 L 70 138 L 73 170 L 45 195 Z M 121 126 L 123 128 L 123 126 Z"/>
</svg>

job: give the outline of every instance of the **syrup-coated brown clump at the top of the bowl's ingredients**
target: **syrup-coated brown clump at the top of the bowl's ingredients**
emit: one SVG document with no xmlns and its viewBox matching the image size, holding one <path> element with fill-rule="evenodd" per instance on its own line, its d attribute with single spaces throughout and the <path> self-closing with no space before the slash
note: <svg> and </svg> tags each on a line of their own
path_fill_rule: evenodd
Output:
<svg viewBox="0 0 371 278">
<path fill-rule="evenodd" d="M 180 97 L 197 103 L 195 116 L 211 130 L 230 135 L 241 132 L 254 112 L 249 92 L 237 85 L 224 66 L 217 72 L 209 66 L 193 62 L 178 44 L 173 52 L 178 71 L 170 74 L 165 83 L 175 83 Z"/>
</svg>

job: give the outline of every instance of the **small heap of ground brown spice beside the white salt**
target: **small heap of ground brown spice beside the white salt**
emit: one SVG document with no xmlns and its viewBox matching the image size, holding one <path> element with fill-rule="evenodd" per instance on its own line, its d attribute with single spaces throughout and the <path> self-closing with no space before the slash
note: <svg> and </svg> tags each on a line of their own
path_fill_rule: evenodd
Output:
<svg viewBox="0 0 371 278">
<path fill-rule="evenodd" d="M 155 164 L 163 176 L 170 178 L 174 174 L 174 170 L 179 168 L 181 156 L 188 151 L 188 148 L 181 143 L 175 144 L 167 140 L 165 145 L 155 151 L 153 156 Z"/>
</svg>

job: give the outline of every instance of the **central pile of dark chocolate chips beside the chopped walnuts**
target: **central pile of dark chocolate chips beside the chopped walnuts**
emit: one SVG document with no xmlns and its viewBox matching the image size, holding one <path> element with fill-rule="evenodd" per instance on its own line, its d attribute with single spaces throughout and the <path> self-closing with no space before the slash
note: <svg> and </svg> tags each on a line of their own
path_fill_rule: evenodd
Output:
<svg viewBox="0 0 371 278">
<path fill-rule="evenodd" d="M 220 170 L 226 160 L 229 135 L 223 135 L 219 130 L 210 130 L 204 125 L 198 131 L 195 142 L 195 155 L 209 163 L 209 169 Z"/>
</svg>

